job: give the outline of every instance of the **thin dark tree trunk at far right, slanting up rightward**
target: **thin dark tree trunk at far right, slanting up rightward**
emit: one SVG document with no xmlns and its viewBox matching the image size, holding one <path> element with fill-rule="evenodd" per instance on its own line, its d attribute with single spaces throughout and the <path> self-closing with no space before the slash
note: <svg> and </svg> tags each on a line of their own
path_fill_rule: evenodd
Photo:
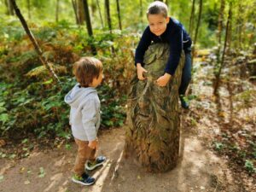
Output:
<svg viewBox="0 0 256 192">
<path fill-rule="evenodd" d="M 227 42 L 228 42 L 228 36 L 229 36 L 229 28 L 230 28 L 230 18 L 231 18 L 231 15 L 232 15 L 232 3 L 230 3 L 229 17 L 228 17 L 227 25 L 226 25 L 224 49 L 223 49 L 223 53 L 222 53 L 221 63 L 220 63 L 220 67 L 218 68 L 218 73 L 216 74 L 216 82 L 214 84 L 214 90 L 213 90 L 213 94 L 214 95 L 218 94 L 218 86 L 219 86 L 220 75 L 221 75 L 222 69 L 224 68 L 224 59 L 225 59 Z"/>
</svg>

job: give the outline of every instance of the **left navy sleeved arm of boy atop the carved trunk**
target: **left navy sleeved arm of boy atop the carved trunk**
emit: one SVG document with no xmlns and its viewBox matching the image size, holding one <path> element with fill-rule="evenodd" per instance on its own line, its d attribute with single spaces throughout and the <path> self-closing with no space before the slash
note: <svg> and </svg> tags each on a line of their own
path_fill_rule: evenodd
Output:
<svg viewBox="0 0 256 192">
<path fill-rule="evenodd" d="M 137 45 L 137 49 L 135 51 L 135 65 L 137 66 L 137 63 L 140 63 L 143 66 L 143 59 L 146 50 L 148 49 L 148 46 L 151 43 L 151 34 L 149 27 L 145 29 L 143 32 L 143 36 L 139 41 L 139 44 Z"/>
</svg>

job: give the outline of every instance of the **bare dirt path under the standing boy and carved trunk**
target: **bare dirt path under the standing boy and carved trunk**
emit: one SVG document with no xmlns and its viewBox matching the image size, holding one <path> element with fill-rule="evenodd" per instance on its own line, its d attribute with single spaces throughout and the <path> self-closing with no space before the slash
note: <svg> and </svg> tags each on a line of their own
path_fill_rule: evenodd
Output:
<svg viewBox="0 0 256 192">
<path fill-rule="evenodd" d="M 240 191 L 234 184 L 224 160 L 219 159 L 201 144 L 195 134 L 183 130 L 181 158 L 171 172 L 148 173 L 134 160 L 122 156 L 125 131 L 103 131 L 100 154 L 108 162 L 96 172 L 96 184 L 83 187 L 71 182 L 71 172 L 76 149 L 61 147 L 51 151 L 33 152 L 20 161 L 0 159 L 1 192 L 192 192 Z M 41 174 L 40 174 L 40 167 Z M 38 176 L 42 177 L 38 177 Z M 44 177 L 43 177 L 44 176 Z"/>
</svg>

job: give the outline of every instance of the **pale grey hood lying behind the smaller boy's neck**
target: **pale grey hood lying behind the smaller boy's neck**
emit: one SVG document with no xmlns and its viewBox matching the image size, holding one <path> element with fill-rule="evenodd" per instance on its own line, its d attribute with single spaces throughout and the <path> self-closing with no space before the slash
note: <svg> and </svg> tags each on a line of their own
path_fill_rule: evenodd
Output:
<svg viewBox="0 0 256 192">
<path fill-rule="evenodd" d="M 89 96 L 92 93 L 96 93 L 94 87 L 79 87 L 79 84 L 76 84 L 72 90 L 70 90 L 64 98 L 64 101 L 70 105 L 72 108 L 78 108 L 79 104 L 83 102 L 86 96 Z"/>
</svg>

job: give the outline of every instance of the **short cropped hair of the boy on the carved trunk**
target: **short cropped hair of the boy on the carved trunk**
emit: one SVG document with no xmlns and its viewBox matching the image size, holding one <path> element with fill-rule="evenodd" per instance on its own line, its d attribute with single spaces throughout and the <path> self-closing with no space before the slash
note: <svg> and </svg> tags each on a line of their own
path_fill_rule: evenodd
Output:
<svg viewBox="0 0 256 192">
<path fill-rule="evenodd" d="M 155 1 L 150 3 L 147 10 L 147 17 L 148 15 L 163 15 L 167 18 L 168 15 L 168 7 L 166 3 L 162 3 L 160 1 Z"/>
</svg>

